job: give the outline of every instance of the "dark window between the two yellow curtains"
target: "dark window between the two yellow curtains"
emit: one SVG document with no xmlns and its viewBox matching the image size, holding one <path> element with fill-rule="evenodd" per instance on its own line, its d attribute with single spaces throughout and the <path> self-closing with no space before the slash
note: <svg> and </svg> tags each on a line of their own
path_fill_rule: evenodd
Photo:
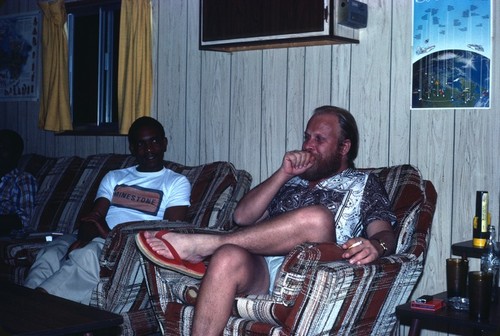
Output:
<svg viewBox="0 0 500 336">
<path fill-rule="evenodd" d="M 73 130 L 118 133 L 120 1 L 67 4 Z"/>
</svg>

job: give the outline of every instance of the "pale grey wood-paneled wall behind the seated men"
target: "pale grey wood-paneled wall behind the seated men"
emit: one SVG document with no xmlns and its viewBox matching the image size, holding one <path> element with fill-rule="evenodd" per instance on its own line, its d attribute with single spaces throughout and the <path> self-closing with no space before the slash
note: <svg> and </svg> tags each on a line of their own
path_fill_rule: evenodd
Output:
<svg viewBox="0 0 500 336">
<path fill-rule="evenodd" d="M 476 190 L 490 192 L 499 224 L 500 98 L 489 110 L 411 110 L 412 2 L 368 1 L 360 44 L 220 53 L 198 50 L 199 3 L 153 0 L 152 115 L 169 137 L 166 157 L 184 164 L 229 160 L 254 184 L 286 150 L 299 148 L 312 110 L 349 109 L 361 133 L 359 167 L 411 163 L 438 191 L 430 249 L 414 296 L 445 290 L 450 245 L 471 239 Z M 0 14 L 37 10 L 5 1 Z M 495 8 L 493 36 L 500 36 Z M 491 92 L 500 70 L 494 39 Z M 126 137 L 55 136 L 37 128 L 37 102 L 0 103 L 0 127 L 19 131 L 26 151 L 52 156 L 127 153 Z M 477 261 L 471 269 L 479 267 Z"/>
</svg>

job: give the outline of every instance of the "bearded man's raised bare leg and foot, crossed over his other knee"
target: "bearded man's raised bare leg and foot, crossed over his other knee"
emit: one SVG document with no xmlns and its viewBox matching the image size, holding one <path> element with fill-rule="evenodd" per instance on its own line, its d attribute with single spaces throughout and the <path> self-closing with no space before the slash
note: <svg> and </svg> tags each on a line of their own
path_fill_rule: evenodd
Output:
<svg viewBox="0 0 500 336">
<path fill-rule="evenodd" d="M 166 258 L 173 258 L 165 244 L 147 232 L 148 244 Z M 177 250 L 181 259 L 199 262 L 227 244 L 244 248 L 252 254 L 285 255 L 303 242 L 335 241 L 332 213 L 323 206 L 310 206 L 244 227 L 229 234 L 181 234 L 162 237 Z"/>
</svg>

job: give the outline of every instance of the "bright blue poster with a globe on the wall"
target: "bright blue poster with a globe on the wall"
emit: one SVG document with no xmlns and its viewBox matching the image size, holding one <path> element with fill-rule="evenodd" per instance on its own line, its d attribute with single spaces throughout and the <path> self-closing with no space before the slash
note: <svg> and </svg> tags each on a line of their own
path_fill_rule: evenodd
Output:
<svg viewBox="0 0 500 336">
<path fill-rule="evenodd" d="M 414 0 L 412 108 L 490 108 L 491 0 Z"/>
</svg>

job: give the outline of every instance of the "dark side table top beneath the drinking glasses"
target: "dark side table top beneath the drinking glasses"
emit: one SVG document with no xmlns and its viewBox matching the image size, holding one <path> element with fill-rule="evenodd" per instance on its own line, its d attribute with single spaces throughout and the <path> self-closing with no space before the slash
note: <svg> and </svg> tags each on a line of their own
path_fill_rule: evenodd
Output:
<svg viewBox="0 0 500 336">
<path fill-rule="evenodd" d="M 434 295 L 434 297 L 446 299 L 447 293 L 442 292 Z M 427 320 L 436 324 L 463 326 L 483 331 L 497 331 L 500 329 L 500 302 L 491 305 L 490 318 L 487 321 L 475 321 L 469 317 L 469 312 L 456 311 L 449 307 L 444 307 L 435 312 L 411 309 L 409 302 L 396 307 L 396 315 L 400 320 Z"/>
</svg>

